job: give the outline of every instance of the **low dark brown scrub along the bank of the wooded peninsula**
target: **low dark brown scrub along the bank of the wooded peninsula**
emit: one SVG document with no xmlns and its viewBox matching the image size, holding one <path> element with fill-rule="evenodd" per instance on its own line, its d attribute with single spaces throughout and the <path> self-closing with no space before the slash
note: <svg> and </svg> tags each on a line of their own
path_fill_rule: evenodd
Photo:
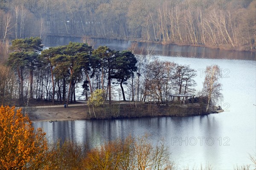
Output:
<svg viewBox="0 0 256 170">
<path fill-rule="evenodd" d="M 197 116 L 204 114 L 204 106 L 199 104 L 112 104 L 95 107 L 94 110 L 96 113 L 96 119 L 131 118 L 148 116 Z M 93 114 L 91 114 L 88 118 L 95 119 Z"/>
</svg>

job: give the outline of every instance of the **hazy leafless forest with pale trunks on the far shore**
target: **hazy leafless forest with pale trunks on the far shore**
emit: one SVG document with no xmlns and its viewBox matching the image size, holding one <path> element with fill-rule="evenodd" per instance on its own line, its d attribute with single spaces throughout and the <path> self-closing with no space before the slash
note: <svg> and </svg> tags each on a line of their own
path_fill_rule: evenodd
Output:
<svg viewBox="0 0 256 170">
<path fill-rule="evenodd" d="M 0 0 L 0 40 L 90 36 L 256 51 L 255 16 L 255 0 Z"/>
</svg>

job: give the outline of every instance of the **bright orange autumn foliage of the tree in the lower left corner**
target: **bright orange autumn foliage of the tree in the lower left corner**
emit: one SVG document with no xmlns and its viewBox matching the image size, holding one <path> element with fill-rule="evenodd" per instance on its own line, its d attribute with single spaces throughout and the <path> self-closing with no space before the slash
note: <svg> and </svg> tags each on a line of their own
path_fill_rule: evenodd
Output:
<svg viewBox="0 0 256 170">
<path fill-rule="evenodd" d="M 21 109 L 0 107 L 0 169 L 47 169 L 47 139 Z"/>
</svg>

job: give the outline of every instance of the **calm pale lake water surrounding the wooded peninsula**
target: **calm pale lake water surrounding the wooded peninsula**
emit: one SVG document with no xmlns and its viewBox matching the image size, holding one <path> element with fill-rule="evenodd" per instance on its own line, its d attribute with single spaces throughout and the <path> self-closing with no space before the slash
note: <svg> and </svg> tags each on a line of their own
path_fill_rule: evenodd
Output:
<svg viewBox="0 0 256 170">
<path fill-rule="evenodd" d="M 46 46 L 81 42 L 79 38 L 61 37 L 57 44 L 49 43 L 47 39 L 45 41 Z M 114 40 L 109 43 L 96 42 L 94 48 L 107 45 L 112 49 L 124 50 L 131 45 L 131 42 Z M 192 169 L 193 166 L 199 169 L 201 164 L 210 164 L 214 170 L 230 170 L 236 164 L 251 164 L 249 154 L 256 153 L 256 53 L 150 43 L 139 45 L 145 48 L 150 45 L 154 48 L 154 55 L 161 60 L 187 64 L 196 69 L 197 90 L 203 87 L 204 75 L 201 75 L 201 71 L 207 65 L 219 65 L 224 96 L 219 105 L 225 112 L 191 117 L 34 122 L 34 127 L 44 128 L 49 142 L 59 138 L 70 139 L 79 143 L 87 142 L 90 147 L 125 138 L 129 134 L 143 136 L 149 133 L 152 144 L 165 139 L 178 169 Z"/>
</svg>

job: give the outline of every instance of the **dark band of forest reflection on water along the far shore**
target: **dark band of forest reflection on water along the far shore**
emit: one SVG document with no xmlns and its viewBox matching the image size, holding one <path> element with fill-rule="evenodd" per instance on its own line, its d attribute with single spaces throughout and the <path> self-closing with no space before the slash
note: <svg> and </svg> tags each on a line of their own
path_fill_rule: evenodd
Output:
<svg viewBox="0 0 256 170">
<path fill-rule="evenodd" d="M 70 41 L 82 42 L 81 38 L 77 37 L 45 37 L 43 39 L 44 46 L 53 47 L 58 45 L 67 45 Z M 107 45 L 111 49 L 126 50 L 131 47 L 132 41 L 111 40 L 104 41 L 93 39 L 93 48 L 98 48 L 99 45 Z M 151 47 L 154 49 L 154 55 L 173 56 L 173 57 L 194 57 L 194 58 L 208 58 L 208 59 L 248 59 L 256 60 L 256 52 L 250 51 L 227 51 L 220 49 L 211 49 L 205 47 L 194 46 L 179 46 L 179 45 L 162 45 L 156 43 L 138 42 L 138 47 L 147 49 Z"/>
</svg>

